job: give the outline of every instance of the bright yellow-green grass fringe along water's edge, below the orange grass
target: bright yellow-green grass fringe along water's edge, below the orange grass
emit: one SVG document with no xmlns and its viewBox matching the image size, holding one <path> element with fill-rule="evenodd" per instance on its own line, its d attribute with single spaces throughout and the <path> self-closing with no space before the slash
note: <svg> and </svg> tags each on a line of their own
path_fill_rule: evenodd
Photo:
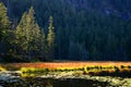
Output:
<svg viewBox="0 0 131 87">
<path fill-rule="evenodd" d="M 123 72 L 131 72 L 130 66 L 85 66 L 85 67 L 56 67 L 56 69 L 36 69 L 36 67 L 22 67 L 20 70 L 22 73 L 48 73 L 48 72 L 83 72 L 83 74 L 93 74 L 99 75 L 102 73 L 112 74 L 112 73 L 123 73 Z"/>
</svg>

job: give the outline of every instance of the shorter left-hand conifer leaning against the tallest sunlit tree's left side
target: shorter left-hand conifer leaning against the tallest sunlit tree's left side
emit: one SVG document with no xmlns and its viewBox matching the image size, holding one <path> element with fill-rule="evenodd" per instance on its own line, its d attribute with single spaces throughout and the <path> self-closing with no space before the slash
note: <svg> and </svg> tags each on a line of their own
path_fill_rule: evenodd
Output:
<svg viewBox="0 0 131 87">
<path fill-rule="evenodd" d="M 23 16 L 16 27 L 16 32 L 15 32 L 15 44 L 17 45 L 17 52 L 22 53 L 23 50 L 26 51 L 27 50 L 27 38 L 26 38 L 26 21 L 27 17 L 27 13 L 23 13 Z"/>
</svg>

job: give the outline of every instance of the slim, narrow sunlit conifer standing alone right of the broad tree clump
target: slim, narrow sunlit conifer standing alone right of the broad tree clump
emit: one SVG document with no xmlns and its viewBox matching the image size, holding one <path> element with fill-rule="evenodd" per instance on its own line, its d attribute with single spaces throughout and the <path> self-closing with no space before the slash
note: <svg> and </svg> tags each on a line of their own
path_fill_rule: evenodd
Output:
<svg viewBox="0 0 131 87">
<path fill-rule="evenodd" d="M 50 59 L 53 58 L 55 54 L 55 27 L 52 16 L 49 17 L 47 44 L 48 44 L 48 58 Z"/>
</svg>

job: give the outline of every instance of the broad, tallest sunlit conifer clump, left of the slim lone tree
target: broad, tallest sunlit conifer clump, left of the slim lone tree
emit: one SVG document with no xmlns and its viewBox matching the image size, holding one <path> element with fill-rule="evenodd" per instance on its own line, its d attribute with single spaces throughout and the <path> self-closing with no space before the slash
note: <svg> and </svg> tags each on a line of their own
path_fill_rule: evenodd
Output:
<svg viewBox="0 0 131 87">
<path fill-rule="evenodd" d="M 28 10 L 28 13 L 25 12 L 15 32 L 17 47 L 22 49 L 19 52 L 24 52 L 29 57 L 39 52 L 40 28 L 34 14 L 33 8 Z"/>
</svg>

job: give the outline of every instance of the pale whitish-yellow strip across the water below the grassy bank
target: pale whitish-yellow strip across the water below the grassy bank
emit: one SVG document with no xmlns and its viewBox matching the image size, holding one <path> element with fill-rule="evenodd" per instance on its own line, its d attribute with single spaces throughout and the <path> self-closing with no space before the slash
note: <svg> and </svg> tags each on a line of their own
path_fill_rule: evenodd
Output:
<svg viewBox="0 0 131 87">
<path fill-rule="evenodd" d="M 34 78 L 34 79 L 53 79 L 53 80 L 88 80 L 88 82 L 98 82 L 98 83 L 107 83 L 110 86 L 123 86 L 130 87 L 131 86 L 131 78 L 122 78 L 122 77 L 112 77 L 112 76 L 91 76 L 91 75 L 79 75 L 74 72 L 61 72 L 61 73 L 48 73 L 45 75 L 38 75 L 35 77 L 24 77 L 24 78 Z M 12 82 L 22 82 L 23 77 L 15 76 L 15 73 L 2 73 L 0 74 L 0 82 L 12 83 Z"/>
</svg>

